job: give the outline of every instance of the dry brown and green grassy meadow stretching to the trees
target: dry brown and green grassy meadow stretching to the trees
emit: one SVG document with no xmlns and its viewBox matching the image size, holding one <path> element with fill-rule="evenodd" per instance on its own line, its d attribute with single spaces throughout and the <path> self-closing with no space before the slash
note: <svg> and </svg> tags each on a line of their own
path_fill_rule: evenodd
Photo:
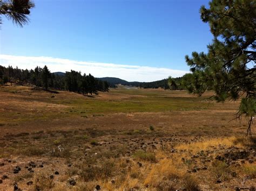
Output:
<svg viewBox="0 0 256 191">
<path fill-rule="evenodd" d="M 253 189 L 246 118 L 212 93 L 0 87 L 0 190 Z"/>
</svg>

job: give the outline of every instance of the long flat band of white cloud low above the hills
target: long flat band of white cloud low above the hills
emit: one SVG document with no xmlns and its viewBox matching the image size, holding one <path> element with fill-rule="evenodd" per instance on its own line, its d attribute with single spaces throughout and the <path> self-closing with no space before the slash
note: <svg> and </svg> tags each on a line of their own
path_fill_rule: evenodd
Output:
<svg viewBox="0 0 256 191">
<path fill-rule="evenodd" d="M 0 54 L 1 65 L 21 69 L 35 69 L 36 66 L 47 65 L 51 72 L 70 70 L 91 73 L 95 77 L 116 77 L 127 81 L 155 81 L 172 77 L 181 77 L 188 71 L 172 70 L 163 67 L 107 64 L 97 62 L 80 62 L 76 60 L 51 57 L 26 57 Z"/>
</svg>

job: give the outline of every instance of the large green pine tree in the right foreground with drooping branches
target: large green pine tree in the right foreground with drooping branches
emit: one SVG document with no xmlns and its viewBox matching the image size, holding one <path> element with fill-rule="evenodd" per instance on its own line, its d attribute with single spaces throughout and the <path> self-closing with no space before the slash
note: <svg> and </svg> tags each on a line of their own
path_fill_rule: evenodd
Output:
<svg viewBox="0 0 256 191">
<path fill-rule="evenodd" d="M 199 95 L 212 89 L 217 101 L 238 100 L 245 94 L 237 118 L 242 114 L 250 117 L 247 135 L 251 135 L 256 112 L 256 1 L 212 0 L 209 4 L 209 9 L 201 6 L 200 13 L 214 39 L 207 53 L 185 57 L 192 71 L 186 87 Z"/>
</svg>

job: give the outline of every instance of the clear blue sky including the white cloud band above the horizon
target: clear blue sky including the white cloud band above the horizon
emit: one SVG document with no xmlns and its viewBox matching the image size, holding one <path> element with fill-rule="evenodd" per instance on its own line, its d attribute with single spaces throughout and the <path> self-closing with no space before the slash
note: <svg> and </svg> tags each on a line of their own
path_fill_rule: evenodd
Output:
<svg viewBox="0 0 256 191">
<path fill-rule="evenodd" d="M 96 77 L 123 77 L 126 80 L 151 81 L 169 75 L 182 76 L 189 71 L 185 55 L 192 51 L 206 51 L 212 35 L 208 24 L 201 22 L 199 9 L 208 5 L 203 0 L 36 0 L 30 23 L 23 28 L 3 18 L 1 29 L 1 64 L 33 67 L 49 65 L 51 71 L 69 69 L 56 62 L 42 63 L 40 57 L 74 62 L 112 63 L 138 66 L 143 76 L 104 68 L 81 71 Z M 26 65 L 8 56 L 38 57 Z M 56 61 L 56 60 L 55 60 Z M 23 60 L 24 62 L 24 60 Z M 55 64 L 53 64 L 55 63 Z M 76 65 L 78 66 L 78 65 Z M 107 67 L 107 65 L 106 65 Z M 166 69 L 157 77 L 146 68 Z M 69 70 L 70 70 L 69 69 Z M 75 67 L 79 70 L 79 67 Z M 183 71 L 173 74 L 172 70 Z M 102 71 L 98 71 L 102 70 Z M 151 71 L 152 71 L 151 70 Z M 147 73 L 147 74 L 146 74 Z M 114 76 L 113 76 L 114 75 Z M 135 79 L 134 79 L 135 78 Z"/>
</svg>

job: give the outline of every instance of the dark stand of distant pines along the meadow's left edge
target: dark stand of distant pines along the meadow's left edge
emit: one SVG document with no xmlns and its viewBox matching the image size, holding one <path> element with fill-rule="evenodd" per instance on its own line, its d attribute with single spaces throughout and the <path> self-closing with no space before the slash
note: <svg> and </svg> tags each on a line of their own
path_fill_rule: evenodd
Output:
<svg viewBox="0 0 256 191">
<path fill-rule="evenodd" d="M 19 85 L 34 85 L 38 87 L 53 88 L 55 90 L 67 90 L 83 94 L 98 94 L 98 91 L 108 92 L 109 84 L 99 80 L 91 74 L 81 74 L 71 70 L 63 75 L 51 73 L 47 66 L 36 67 L 34 70 L 22 70 L 18 67 L 4 67 L 0 65 L 0 85 L 5 83 Z"/>
</svg>

